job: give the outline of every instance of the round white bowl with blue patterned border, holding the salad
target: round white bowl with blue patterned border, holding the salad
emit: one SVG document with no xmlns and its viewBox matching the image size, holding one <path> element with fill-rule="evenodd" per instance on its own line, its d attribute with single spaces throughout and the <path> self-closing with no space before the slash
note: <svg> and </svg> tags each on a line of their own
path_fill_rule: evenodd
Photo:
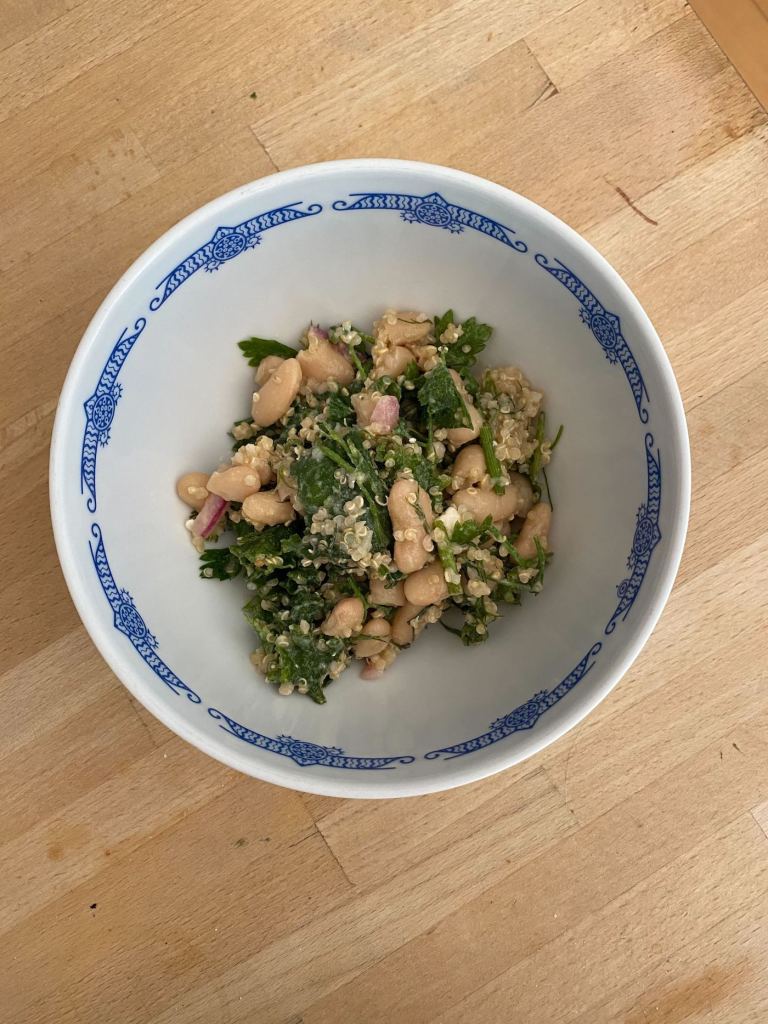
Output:
<svg viewBox="0 0 768 1024">
<path fill-rule="evenodd" d="M 216 271 L 207 272 L 207 271 Z M 214 466 L 249 406 L 237 342 L 311 318 L 453 307 L 496 328 L 565 431 L 551 468 L 544 592 L 487 643 L 439 626 L 377 682 L 281 697 L 249 663 L 239 581 L 198 579 L 174 492 Z M 667 600 L 690 496 L 683 407 L 662 344 L 579 234 L 482 178 L 357 160 L 275 174 L 209 203 L 101 304 L 56 416 L 51 508 L 85 626 L 133 695 L 241 771 L 339 797 L 413 796 L 553 742 L 618 681 Z"/>
</svg>

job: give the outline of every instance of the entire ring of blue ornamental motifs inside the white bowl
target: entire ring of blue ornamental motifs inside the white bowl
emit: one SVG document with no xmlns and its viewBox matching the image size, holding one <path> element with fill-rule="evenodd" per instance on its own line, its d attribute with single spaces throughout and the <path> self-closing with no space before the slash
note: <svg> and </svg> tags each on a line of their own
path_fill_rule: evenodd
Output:
<svg viewBox="0 0 768 1024">
<path fill-rule="evenodd" d="M 292 203 L 259 214 L 241 224 L 216 228 L 205 245 L 182 260 L 159 283 L 157 290 L 162 291 L 151 299 L 150 311 L 159 309 L 176 289 L 198 270 L 217 270 L 226 261 L 259 245 L 263 232 L 269 228 L 313 216 L 323 210 L 318 203 L 309 204 L 305 209 L 299 209 L 300 206 L 300 203 Z M 461 233 L 465 227 L 469 227 L 496 239 L 517 252 L 527 252 L 527 246 L 515 237 L 516 232 L 512 228 L 506 227 L 483 214 L 450 203 L 439 193 L 430 193 L 426 196 L 399 193 L 353 193 L 347 200 L 334 202 L 333 209 L 338 211 L 398 211 L 402 219 L 410 223 L 440 227 L 457 234 Z M 582 321 L 592 332 L 606 358 L 611 364 L 618 364 L 623 368 L 632 389 L 640 420 L 647 423 L 649 419 L 648 392 L 632 351 L 622 334 L 618 316 L 605 309 L 584 282 L 564 263 L 555 260 L 553 264 L 550 264 L 548 258 L 542 253 L 537 253 L 535 259 L 540 266 L 560 281 L 579 300 Z M 128 328 L 123 331 L 110 354 L 95 391 L 84 403 L 86 427 L 81 459 L 81 490 L 88 492 L 87 506 L 91 512 L 95 512 L 96 509 L 96 452 L 99 445 L 105 445 L 110 441 L 110 429 L 122 393 L 121 386 L 117 383 L 117 377 L 145 325 L 146 319 L 139 317 L 130 333 Z M 630 574 L 616 588 L 618 604 L 605 627 L 606 635 L 613 632 L 620 620 L 623 621 L 627 617 L 645 578 L 653 549 L 660 541 L 658 527 L 660 456 L 657 450 L 655 454 L 653 452 L 653 437 L 650 433 L 645 435 L 645 450 L 648 469 L 648 498 L 640 506 L 637 513 L 632 548 L 627 563 Z M 101 529 L 97 523 L 92 524 L 91 535 L 96 542 L 95 545 L 93 543 L 89 545 L 91 557 L 101 588 L 113 609 L 115 628 L 128 638 L 145 664 L 170 689 L 177 694 L 184 693 L 187 699 L 195 703 L 201 703 L 199 694 L 182 682 L 158 656 L 157 638 L 150 632 L 128 591 L 117 587 L 106 558 Z M 515 732 L 534 728 L 541 716 L 561 700 L 592 670 L 595 658 L 601 649 L 602 643 L 598 641 L 556 687 L 551 690 L 541 690 L 509 714 L 496 719 L 487 732 L 462 743 L 429 751 L 424 757 L 427 760 L 463 757 L 499 742 Z M 240 725 L 215 708 L 208 708 L 208 714 L 221 723 L 220 727 L 223 730 L 244 742 L 290 758 L 295 764 L 302 767 L 317 765 L 331 768 L 378 770 L 409 765 L 416 760 L 413 755 L 352 757 L 345 755 L 339 748 L 321 746 L 307 740 L 296 739 L 293 736 L 265 736 Z"/>
</svg>

